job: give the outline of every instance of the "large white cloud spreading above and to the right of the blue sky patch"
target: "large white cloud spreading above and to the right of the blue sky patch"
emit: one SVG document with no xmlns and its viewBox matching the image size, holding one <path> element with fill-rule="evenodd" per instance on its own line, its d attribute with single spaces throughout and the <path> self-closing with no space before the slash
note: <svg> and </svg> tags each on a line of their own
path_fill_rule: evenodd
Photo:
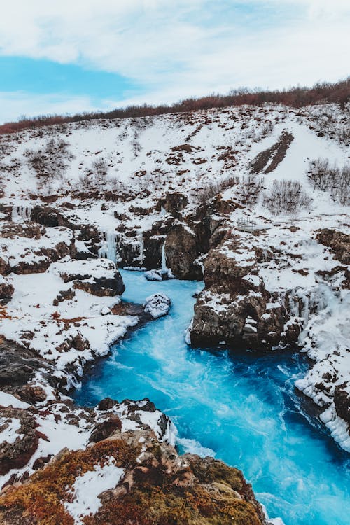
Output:
<svg viewBox="0 0 350 525">
<path fill-rule="evenodd" d="M 242 6 L 265 16 L 241 15 Z M 132 102 L 172 102 L 344 78 L 349 21 L 348 0 L 12 0 L 1 9 L 0 53 L 120 73 L 144 86 Z"/>
</svg>

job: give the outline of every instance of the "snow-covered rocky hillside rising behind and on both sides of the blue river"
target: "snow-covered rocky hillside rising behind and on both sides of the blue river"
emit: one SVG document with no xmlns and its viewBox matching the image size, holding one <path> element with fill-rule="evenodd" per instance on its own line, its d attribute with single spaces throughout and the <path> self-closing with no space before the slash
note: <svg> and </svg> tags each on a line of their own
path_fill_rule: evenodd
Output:
<svg viewBox="0 0 350 525">
<path fill-rule="evenodd" d="M 349 112 L 266 104 L 1 136 L 0 335 L 40 360 L 25 381 L 52 400 L 151 317 L 125 310 L 98 257 L 204 278 L 188 342 L 307 352 L 296 386 L 350 451 Z"/>
</svg>

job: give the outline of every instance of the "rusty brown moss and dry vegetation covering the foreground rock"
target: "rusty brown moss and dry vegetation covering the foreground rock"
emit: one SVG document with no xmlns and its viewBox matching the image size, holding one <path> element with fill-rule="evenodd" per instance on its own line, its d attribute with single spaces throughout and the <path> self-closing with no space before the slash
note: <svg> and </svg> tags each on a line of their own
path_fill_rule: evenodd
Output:
<svg viewBox="0 0 350 525">
<path fill-rule="evenodd" d="M 192 456 L 188 466 L 173 472 L 162 463 L 159 444 L 152 449 L 152 464 L 140 466 L 140 449 L 140 444 L 134 447 L 117 439 L 84 451 L 66 450 L 28 482 L 11 486 L 1 495 L 1 523 L 73 525 L 64 503 L 73 500 L 76 478 L 113 456 L 116 466 L 132 472 L 132 477 L 125 477 L 129 489 L 109 492 L 97 514 L 83 518 L 85 525 L 261 524 L 251 489 L 239 470 Z"/>
</svg>

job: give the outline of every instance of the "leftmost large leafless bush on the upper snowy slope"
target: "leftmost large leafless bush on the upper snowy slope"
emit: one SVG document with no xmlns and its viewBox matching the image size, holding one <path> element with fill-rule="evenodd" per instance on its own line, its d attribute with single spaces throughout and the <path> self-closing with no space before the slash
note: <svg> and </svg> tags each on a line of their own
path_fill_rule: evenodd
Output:
<svg viewBox="0 0 350 525">
<path fill-rule="evenodd" d="M 62 176 L 66 171 L 67 160 L 72 160 L 69 143 L 63 139 L 49 139 L 42 149 L 25 151 L 27 164 L 38 176 Z"/>
</svg>

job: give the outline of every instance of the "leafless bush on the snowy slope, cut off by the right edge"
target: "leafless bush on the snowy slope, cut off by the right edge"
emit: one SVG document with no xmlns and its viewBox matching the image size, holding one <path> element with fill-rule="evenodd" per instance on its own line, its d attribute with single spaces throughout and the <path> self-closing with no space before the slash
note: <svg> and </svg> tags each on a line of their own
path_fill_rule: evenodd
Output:
<svg viewBox="0 0 350 525">
<path fill-rule="evenodd" d="M 307 175 L 314 189 L 327 191 L 343 206 L 350 204 L 350 165 L 339 168 L 328 159 L 318 158 L 309 162 Z"/>
</svg>

